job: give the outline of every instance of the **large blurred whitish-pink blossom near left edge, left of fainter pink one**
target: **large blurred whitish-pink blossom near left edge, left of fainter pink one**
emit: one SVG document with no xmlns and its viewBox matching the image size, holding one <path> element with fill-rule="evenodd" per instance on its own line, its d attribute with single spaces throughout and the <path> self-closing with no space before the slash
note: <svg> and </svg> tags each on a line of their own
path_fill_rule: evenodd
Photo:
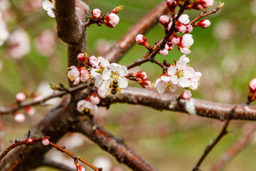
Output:
<svg viewBox="0 0 256 171">
<path fill-rule="evenodd" d="M 11 33 L 7 40 L 8 53 L 12 58 L 22 58 L 31 51 L 28 34 L 23 29 Z"/>
</svg>

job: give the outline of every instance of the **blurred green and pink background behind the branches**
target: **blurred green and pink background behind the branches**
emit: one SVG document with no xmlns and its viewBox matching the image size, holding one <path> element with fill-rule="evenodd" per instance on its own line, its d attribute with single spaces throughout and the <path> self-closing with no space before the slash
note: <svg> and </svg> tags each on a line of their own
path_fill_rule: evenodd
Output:
<svg viewBox="0 0 256 171">
<path fill-rule="evenodd" d="M 18 92 L 49 95 L 48 83 L 68 86 L 66 75 L 67 46 L 56 36 L 55 19 L 51 19 L 43 10 L 41 0 L 0 0 L 2 18 L 10 33 L 23 29 L 30 45 L 23 47 L 24 56 L 17 57 L 17 51 L 11 52 L 11 40 L 0 46 L 0 105 L 6 106 L 15 101 Z M 119 13 L 119 24 L 114 28 L 92 25 L 87 28 L 87 53 L 100 56 L 128 29 L 154 8 L 160 0 L 98 0 L 85 1 L 90 9 L 98 8 L 107 14 L 114 6 L 124 5 Z M 7 7 L 5 7 L 7 6 Z M 214 7 L 218 6 L 215 1 Z M 196 18 L 200 11 L 186 11 L 190 19 Z M 193 98 L 212 100 L 220 103 L 245 103 L 248 83 L 256 76 L 256 1 L 225 0 L 225 6 L 217 14 L 207 17 L 209 28 L 194 28 L 192 35 L 190 65 L 203 73 L 201 85 L 193 92 Z M 1 33 L 0 33 L 1 34 Z M 16 35 L 21 35 L 18 33 Z M 157 24 L 146 35 L 151 45 L 161 40 L 164 29 Z M 14 36 L 14 39 L 18 39 Z M 25 42 L 23 38 L 22 42 Z M 17 44 L 11 44 L 14 48 Z M 11 55 L 13 53 L 13 55 Z M 146 53 L 142 46 L 134 45 L 122 58 L 120 64 L 128 65 Z M 166 59 L 170 63 L 182 56 L 176 48 L 168 56 L 157 56 L 159 61 Z M 149 69 L 150 68 L 150 69 Z M 152 63 L 145 63 L 134 71 L 146 71 L 149 80 L 154 83 L 161 74 L 161 68 Z M 138 86 L 131 83 L 132 86 Z M 180 92 L 176 92 L 180 93 Z M 6 143 L 23 137 L 29 128 L 36 125 L 60 99 L 50 101 L 48 107 L 36 107 L 33 116 L 26 115 L 23 123 L 17 123 L 13 115 L 4 115 Z M 252 103 L 255 105 L 255 103 Z M 24 113 L 23 110 L 20 111 Z M 218 120 L 154 110 L 138 105 L 114 104 L 109 110 L 100 108 L 94 113 L 95 120 L 110 133 L 124 138 L 144 159 L 159 170 L 192 170 L 201 157 L 204 148 L 215 138 L 223 123 Z M 223 153 L 235 141 L 246 133 L 254 122 L 232 121 L 228 134 L 214 148 L 201 167 L 210 170 Z M 256 170 L 256 139 L 242 150 L 223 170 Z M 105 171 L 129 170 L 107 152 L 79 134 L 68 134 L 58 145 L 65 145 L 68 150 L 82 156 L 88 162 L 106 168 Z M 72 160 L 61 152 L 52 150 L 48 157 L 73 166 Z M 53 170 L 41 167 L 37 170 Z M 90 170 L 90 168 L 87 168 Z"/>
</svg>

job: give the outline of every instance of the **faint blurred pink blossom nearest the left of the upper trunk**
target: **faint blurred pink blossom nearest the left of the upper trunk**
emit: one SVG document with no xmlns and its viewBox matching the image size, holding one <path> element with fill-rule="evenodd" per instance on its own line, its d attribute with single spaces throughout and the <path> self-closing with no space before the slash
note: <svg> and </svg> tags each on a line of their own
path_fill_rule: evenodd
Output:
<svg viewBox="0 0 256 171">
<path fill-rule="evenodd" d="M 50 56 L 55 51 L 55 34 L 45 30 L 35 39 L 36 49 L 44 56 Z"/>
</svg>

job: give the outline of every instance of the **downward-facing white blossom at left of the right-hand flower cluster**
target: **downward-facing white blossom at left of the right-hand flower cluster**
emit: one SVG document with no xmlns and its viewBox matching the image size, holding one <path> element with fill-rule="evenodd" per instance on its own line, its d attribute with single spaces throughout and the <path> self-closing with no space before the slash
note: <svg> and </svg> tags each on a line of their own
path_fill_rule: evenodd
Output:
<svg viewBox="0 0 256 171">
<path fill-rule="evenodd" d="M 177 86 L 171 82 L 170 76 L 161 76 L 161 78 L 158 78 L 154 87 L 157 88 L 159 93 L 164 93 L 165 90 L 174 92 L 177 88 Z"/>
</svg>

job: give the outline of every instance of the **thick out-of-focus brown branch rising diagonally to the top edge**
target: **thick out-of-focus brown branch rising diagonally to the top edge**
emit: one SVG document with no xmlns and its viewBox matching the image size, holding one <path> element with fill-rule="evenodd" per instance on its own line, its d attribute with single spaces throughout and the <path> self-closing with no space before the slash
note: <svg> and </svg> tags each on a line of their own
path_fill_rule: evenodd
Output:
<svg viewBox="0 0 256 171">
<path fill-rule="evenodd" d="M 129 48 L 132 47 L 135 43 L 135 37 L 141 33 L 147 33 L 149 31 L 149 28 L 153 27 L 155 24 L 158 23 L 159 17 L 163 14 L 166 14 L 169 11 L 166 0 L 162 1 L 161 4 L 156 6 L 154 9 L 152 9 L 149 14 L 144 16 L 143 19 L 139 20 L 137 24 L 132 26 L 132 28 L 129 29 L 129 31 L 122 36 L 122 38 L 117 41 L 117 43 L 110 48 L 109 51 L 107 51 L 103 57 L 105 57 L 110 63 L 112 62 L 118 62 L 122 56 L 124 56 L 124 53 L 126 53 Z"/>
</svg>

